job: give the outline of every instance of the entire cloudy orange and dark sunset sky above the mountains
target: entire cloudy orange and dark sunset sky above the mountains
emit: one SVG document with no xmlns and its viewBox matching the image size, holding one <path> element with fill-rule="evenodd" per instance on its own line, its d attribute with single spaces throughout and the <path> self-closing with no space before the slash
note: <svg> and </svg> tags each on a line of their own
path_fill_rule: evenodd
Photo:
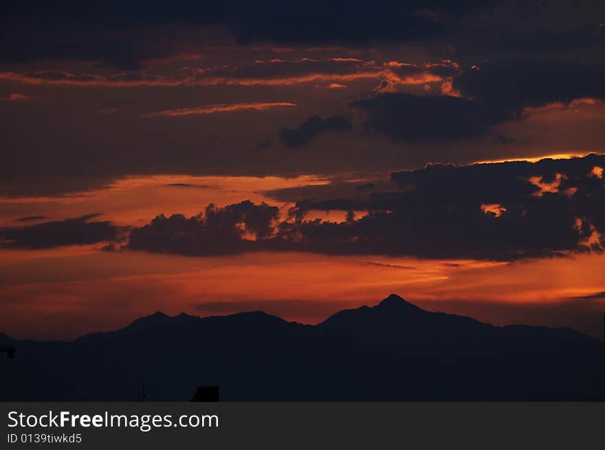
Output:
<svg viewBox="0 0 605 450">
<path fill-rule="evenodd" d="M 10 1 L 0 21 L 0 332 L 315 324 L 397 293 L 602 336 L 604 2 Z"/>
</svg>

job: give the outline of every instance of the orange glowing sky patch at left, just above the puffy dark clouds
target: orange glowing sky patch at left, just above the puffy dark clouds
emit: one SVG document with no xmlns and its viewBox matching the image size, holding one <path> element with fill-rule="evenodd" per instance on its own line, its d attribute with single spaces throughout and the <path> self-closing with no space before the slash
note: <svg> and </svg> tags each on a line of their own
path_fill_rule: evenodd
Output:
<svg viewBox="0 0 605 450">
<path fill-rule="evenodd" d="M 183 213 L 195 216 L 208 203 L 217 206 L 249 199 L 255 203 L 274 203 L 263 191 L 303 185 L 325 185 L 329 178 L 314 175 L 299 177 L 220 177 L 189 175 L 152 175 L 125 177 L 107 188 L 65 196 L 8 198 L 0 197 L 0 227 L 14 226 L 14 220 L 36 214 L 61 221 L 90 212 L 102 212 L 102 220 L 118 225 L 142 225 L 157 214 Z M 279 205 L 283 214 L 292 204 Z"/>
</svg>

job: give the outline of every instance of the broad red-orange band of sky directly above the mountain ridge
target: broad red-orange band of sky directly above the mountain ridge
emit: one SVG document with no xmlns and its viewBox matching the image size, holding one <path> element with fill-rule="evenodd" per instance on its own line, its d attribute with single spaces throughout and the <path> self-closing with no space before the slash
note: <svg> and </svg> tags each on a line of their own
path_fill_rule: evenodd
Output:
<svg viewBox="0 0 605 450">
<path fill-rule="evenodd" d="M 316 323 L 391 292 L 441 309 L 440 302 L 445 308 L 451 300 L 555 304 L 605 291 L 605 256 L 596 254 L 509 264 L 311 254 L 197 258 L 46 252 L 45 258 L 14 262 L 2 251 L 0 329 L 9 335 L 76 337 L 118 328 L 157 310 L 197 315 L 196 305 L 204 302 L 236 302 L 221 314 L 257 310 L 262 302 L 270 313 Z M 292 306 L 296 302 L 311 303 L 301 309 Z"/>
</svg>

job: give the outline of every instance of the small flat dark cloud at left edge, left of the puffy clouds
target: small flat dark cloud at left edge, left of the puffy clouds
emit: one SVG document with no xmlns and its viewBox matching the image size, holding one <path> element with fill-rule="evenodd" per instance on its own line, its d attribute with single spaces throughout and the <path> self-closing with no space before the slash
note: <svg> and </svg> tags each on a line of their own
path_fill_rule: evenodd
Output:
<svg viewBox="0 0 605 450">
<path fill-rule="evenodd" d="M 50 249 L 65 245 L 87 245 L 116 240 L 124 231 L 109 221 L 94 220 L 87 214 L 64 221 L 43 222 L 26 227 L 0 229 L 0 247 L 10 249 Z"/>
</svg>

